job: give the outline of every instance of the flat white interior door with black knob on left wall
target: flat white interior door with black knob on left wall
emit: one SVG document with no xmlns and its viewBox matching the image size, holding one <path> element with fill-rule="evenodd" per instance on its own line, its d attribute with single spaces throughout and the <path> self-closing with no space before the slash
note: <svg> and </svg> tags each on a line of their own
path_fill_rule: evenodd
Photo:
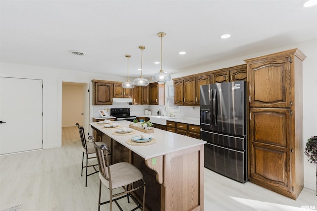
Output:
<svg viewBox="0 0 317 211">
<path fill-rule="evenodd" d="M 42 149 L 42 84 L 0 77 L 0 155 Z"/>
</svg>

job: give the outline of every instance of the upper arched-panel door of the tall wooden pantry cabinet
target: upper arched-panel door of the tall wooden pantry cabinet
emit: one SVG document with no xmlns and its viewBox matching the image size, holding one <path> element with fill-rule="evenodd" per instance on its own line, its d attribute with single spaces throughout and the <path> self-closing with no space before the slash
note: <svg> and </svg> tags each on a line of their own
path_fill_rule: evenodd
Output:
<svg viewBox="0 0 317 211">
<path fill-rule="evenodd" d="M 290 107 L 290 57 L 249 64 L 252 107 Z"/>
</svg>

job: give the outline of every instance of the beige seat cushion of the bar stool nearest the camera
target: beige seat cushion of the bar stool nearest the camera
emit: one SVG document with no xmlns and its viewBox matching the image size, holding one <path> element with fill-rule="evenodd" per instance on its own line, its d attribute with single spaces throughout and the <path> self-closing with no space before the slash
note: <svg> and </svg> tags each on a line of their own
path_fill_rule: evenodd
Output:
<svg viewBox="0 0 317 211">
<path fill-rule="evenodd" d="M 107 172 L 107 169 L 106 169 Z M 128 162 L 119 162 L 110 165 L 112 189 L 123 187 L 143 178 L 139 169 Z M 109 181 L 99 172 L 102 183 L 109 188 Z"/>
</svg>

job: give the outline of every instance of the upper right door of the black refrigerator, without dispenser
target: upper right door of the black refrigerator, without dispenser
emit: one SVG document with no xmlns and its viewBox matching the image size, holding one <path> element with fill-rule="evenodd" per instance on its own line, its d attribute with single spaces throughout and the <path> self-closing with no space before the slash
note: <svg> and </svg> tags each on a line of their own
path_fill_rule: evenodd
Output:
<svg viewBox="0 0 317 211">
<path fill-rule="evenodd" d="M 217 83 L 213 85 L 213 120 L 211 131 L 246 135 L 245 81 Z M 212 121 L 212 120 L 211 120 Z"/>
</svg>

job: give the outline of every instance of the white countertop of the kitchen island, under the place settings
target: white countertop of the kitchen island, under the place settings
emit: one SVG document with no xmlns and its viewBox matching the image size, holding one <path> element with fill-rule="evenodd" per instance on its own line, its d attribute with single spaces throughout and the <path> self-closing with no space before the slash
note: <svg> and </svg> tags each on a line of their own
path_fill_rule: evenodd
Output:
<svg viewBox="0 0 317 211">
<path fill-rule="evenodd" d="M 131 122 L 122 120 L 122 121 L 113 121 L 115 123 L 119 123 L 121 127 L 129 127 Z M 134 153 L 138 154 L 144 159 L 155 158 L 158 156 L 166 155 L 168 153 L 192 148 L 195 146 L 200 146 L 206 141 L 202 141 L 199 139 L 191 138 L 188 136 L 183 136 L 177 133 L 172 133 L 164 130 L 160 130 L 158 128 L 154 129 L 154 133 L 148 133 L 152 135 L 157 142 L 148 146 L 132 146 L 126 143 L 126 141 L 134 136 L 138 136 L 144 134 L 141 131 L 135 130 L 136 133 L 126 136 L 113 135 L 112 132 L 116 130 L 114 129 L 103 129 L 103 125 L 98 125 L 96 122 L 91 122 L 90 125 L 93 125 L 95 128 L 99 129 L 102 133 L 111 137 L 115 141 L 119 142 L 126 148 L 130 149 Z"/>
</svg>

